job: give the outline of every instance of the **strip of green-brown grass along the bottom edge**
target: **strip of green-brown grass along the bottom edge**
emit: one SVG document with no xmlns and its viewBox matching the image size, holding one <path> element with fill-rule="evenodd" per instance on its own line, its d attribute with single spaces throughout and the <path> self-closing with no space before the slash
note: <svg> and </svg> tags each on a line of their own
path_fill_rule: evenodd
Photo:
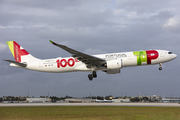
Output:
<svg viewBox="0 0 180 120">
<path fill-rule="evenodd" d="M 179 107 L 0 107 L 0 120 L 180 120 Z"/>
</svg>

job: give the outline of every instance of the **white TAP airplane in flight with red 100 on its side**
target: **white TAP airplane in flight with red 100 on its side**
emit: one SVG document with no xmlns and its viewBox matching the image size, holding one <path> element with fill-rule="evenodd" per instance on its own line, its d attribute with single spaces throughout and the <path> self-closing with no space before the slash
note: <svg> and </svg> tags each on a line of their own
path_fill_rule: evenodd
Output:
<svg viewBox="0 0 180 120">
<path fill-rule="evenodd" d="M 144 66 L 159 64 L 162 70 L 162 63 L 171 61 L 177 57 L 176 54 L 167 50 L 141 50 L 133 52 L 106 53 L 88 55 L 79 52 L 65 45 L 50 42 L 72 54 L 71 57 L 57 57 L 54 59 L 38 59 L 29 54 L 15 41 L 7 41 L 9 49 L 16 61 L 4 60 L 13 67 L 25 68 L 34 71 L 63 73 L 87 71 L 89 80 L 97 77 L 97 71 L 107 74 L 118 74 L 123 67 Z"/>
</svg>

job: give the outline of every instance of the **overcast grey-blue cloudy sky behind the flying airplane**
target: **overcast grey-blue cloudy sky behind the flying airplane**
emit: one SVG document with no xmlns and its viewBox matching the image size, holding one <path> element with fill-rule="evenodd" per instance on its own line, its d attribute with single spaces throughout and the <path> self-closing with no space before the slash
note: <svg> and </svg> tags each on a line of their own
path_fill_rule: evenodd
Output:
<svg viewBox="0 0 180 120">
<path fill-rule="evenodd" d="M 49 40 L 89 55 L 148 49 L 180 56 L 179 0 L 1 0 L 0 96 L 180 97 L 179 57 L 159 65 L 122 68 L 120 74 L 43 73 L 10 67 L 6 41 L 40 59 L 71 54 Z"/>
</svg>

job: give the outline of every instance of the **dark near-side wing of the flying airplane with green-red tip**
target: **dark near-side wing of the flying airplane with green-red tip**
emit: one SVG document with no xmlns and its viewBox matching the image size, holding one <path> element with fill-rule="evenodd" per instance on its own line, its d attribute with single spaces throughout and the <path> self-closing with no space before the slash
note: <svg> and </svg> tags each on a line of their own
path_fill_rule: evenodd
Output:
<svg viewBox="0 0 180 120">
<path fill-rule="evenodd" d="M 57 44 L 57 43 L 55 43 L 55 42 L 53 42 L 51 40 L 50 40 L 50 42 L 52 44 L 64 49 L 64 50 L 66 50 L 67 52 L 71 53 L 72 57 L 74 57 L 74 58 L 78 59 L 79 61 L 85 63 L 88 68 L 91 68 L 93 66 L 96 66 L 96 67 L 101 66 L 102 67 L 102 65 L 104 63 L 106 63 L 106 61 L 101 59 L 101 58 L 97 58 L 97 57 L 94 57 L 94 56 L 91 56 L 91 55 L 88 55 L 88 54 L 73 50 L 73 49 L 71 49 L 71 48 L 69 48 L 67 46 Z"/>
</svg>

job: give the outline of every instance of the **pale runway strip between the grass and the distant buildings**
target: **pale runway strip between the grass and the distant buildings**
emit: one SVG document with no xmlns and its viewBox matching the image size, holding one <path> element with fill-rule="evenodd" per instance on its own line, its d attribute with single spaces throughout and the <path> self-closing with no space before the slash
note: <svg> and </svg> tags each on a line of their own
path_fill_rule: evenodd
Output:
<svg viewBox="0 0 180 120">
<path fill-rule="evenodd" d="M 0 103 L 0 107 L 37 106 L 141 106 L 141 107 L 180 107 L 178 103 Z"/>
</svg>

